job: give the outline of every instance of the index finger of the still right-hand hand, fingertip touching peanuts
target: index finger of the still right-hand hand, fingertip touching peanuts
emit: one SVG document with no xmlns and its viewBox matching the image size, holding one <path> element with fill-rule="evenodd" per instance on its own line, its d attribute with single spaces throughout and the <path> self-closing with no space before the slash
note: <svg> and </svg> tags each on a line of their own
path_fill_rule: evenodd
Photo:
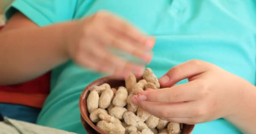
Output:
<svg viewBox="0 0 256 134">
<path fill-rule="evenodd" d="M 176 103 L 184 101 L 195 101 L 201 97 L 199 80 L 191 81 L 171 88 L 158 90 L 147 90 L 138 93 L 138 101 L 151 101 L 162 103 Z"/>
</svg>

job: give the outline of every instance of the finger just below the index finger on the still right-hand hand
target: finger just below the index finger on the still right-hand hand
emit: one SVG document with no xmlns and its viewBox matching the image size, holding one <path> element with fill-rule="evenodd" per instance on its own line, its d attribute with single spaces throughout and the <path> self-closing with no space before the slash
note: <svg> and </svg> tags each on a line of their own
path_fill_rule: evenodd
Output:
<svg viewBox="0 0 256 134">
<path fill-rule="evenodd" d="M 158 103 L 149 101 L 139 101 L 139 107 L 148 111 L 158 118 L 187 118 L 194 114 L 191 112 L 195 101 L 182 103 Z"/>
</svg>

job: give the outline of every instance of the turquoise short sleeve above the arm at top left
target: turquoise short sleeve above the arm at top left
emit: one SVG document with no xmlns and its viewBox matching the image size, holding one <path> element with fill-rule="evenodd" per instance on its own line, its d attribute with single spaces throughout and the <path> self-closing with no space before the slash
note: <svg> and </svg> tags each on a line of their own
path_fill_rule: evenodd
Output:
<svg viewBox="0 0 256 134">
<path fill-rule="evenodd" d="M 38 26 L 73 19 L 77 0 L 15 0 L 5 11 L 8 19 L 20 11 Z"/>
</svg>

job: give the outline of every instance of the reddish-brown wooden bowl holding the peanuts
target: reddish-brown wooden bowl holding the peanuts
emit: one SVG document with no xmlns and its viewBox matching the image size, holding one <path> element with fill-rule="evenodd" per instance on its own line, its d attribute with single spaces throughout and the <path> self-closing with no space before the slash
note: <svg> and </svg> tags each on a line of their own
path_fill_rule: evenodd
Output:
<svg viewBox="0 0 256 134">
<path fill-rule="evenodd" d="M 83 93 L 80 96 L 79 100 L 79 107 L 80 107 L 80 113 L 81 113 L 81 121 L 85 128 L 85 130 L 88 132 L 88 134 L 106 134 L 104 131 L 99 129 L 91 120 L 89 119 L 89 112 L 87 110 L 86 100 L 90 93 L 90 89 L 94 86 L 101 85 L 104 83 L 108 83 L 111 88 L 118 88 L 120 86 L 125 85 L 124 80 L 114 80 L 110 77 L 102 77 L 98 80 L 93 81 L 91 84 L 89 84 L 84 90 Z M 181 131 L 181 134 L 190 134 L 192 130 L 194 129 L 195 125 L 183 125 L 183 129 Z"/>
</svg>

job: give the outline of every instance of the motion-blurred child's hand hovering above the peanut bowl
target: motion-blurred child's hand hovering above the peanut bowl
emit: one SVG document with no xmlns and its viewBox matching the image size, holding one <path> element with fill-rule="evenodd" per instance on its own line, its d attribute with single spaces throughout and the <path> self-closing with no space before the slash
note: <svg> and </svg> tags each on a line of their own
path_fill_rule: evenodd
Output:
<svg viewBox="0 0 256 134">
<path fill-rule="evenodd" d="M 142 75 L 144 65 L 133 64 L 109 52 L 119 49 L 146 63 L 155 40 L 114 15 L 101 11 L 75 23 L 67 41 L 67 52 L 77 64 L 95 71 L 126 77 Z"/>
</svg>

